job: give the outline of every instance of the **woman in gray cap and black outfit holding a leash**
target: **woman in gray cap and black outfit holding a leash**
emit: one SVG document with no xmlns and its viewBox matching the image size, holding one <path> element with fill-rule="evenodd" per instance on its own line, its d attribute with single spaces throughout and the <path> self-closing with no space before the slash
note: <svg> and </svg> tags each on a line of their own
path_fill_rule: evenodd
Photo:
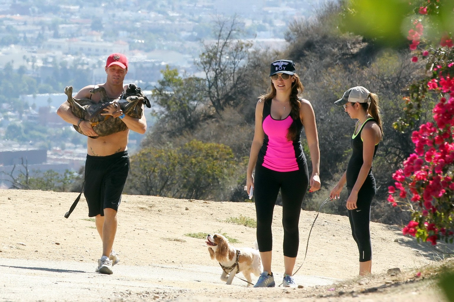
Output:
<svg viewBox="0 0 454 302">
<path fill-rule="evenodd" d="M 352 87 L 334 102 L 343 106 L 351 119 L 357 119 L 350 145 L 353 149 L 347 170 L 331 190 L 330 197 L 340 198 L 347 184 L 347 212 L 351 233 L 360 252 L 360 276 L 371 273 L 372 247 L 370 243 L 370 205 L 376 184 L 372 174 L 372 160 L 383 137 L 378 96 L 363 86 Z"/>
</svg>

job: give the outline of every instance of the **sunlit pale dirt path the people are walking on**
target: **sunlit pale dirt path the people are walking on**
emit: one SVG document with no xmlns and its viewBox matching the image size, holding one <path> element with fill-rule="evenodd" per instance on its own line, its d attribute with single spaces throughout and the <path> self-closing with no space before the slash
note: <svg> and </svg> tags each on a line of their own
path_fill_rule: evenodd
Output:
<svg viewBox="0 0 454 302">
<path fill-rule="evenodd" d="M 320 214 L 305 264 L 295 275 L 304 288 L 246 288 L 235 278 L 231 286 L 219 279 L 221 268 L 210 259 L 204 240 L 189 233 L 227 233 L 236 246 L 254 246 L 255 229 L 225 222 L 229 217 L 255 217 L 252 203 L 188 201 L 150 196 L 123 196 L 114 248 L 121 257 L 114 274 L 94 273 L 101 242 L 94 222 L 86 220 L 82 198 L 69 219 L 75 193 L 0 190 L 0 302 L 6 301 L 444 301 L 432 283 L 424 290 L 410 285 L 387 286 L 360 293 L 375 284 L 394 284 L 385 274 L 399 267 L 412 272 L 433 264 L 442 253 L 401 235 L 400 228 L 372 223 L 371 278 L 359 279 L 357 248 L 348 218 Z M 273 220 L 273 266 L 282 278 L 281 207 Z M 300 249 L 316 212 L 302 211 Z M 242 277 L 241 274 L 239 274 Z M 343 280 L 344 284 L 338 281 Z M 347 285 L 345 280 L 353 280 Z M 388 283 L 386 283 L 388 282 Z M 408 287 L 409 292 L 404 288 Z M 358 288 L 356 292 L 355 288 Z M 393 292 L 394 288 L 399 288 Z M 353 292 L 352 292 L 353 291 Z M 339 294 L 341 292 L 341 294 Z M 343 292 L 348 292 L 347 295 Z M 412 297 L 405 300 L 403 293 Z M 424 300 L 427 294 L 429 300 Z M 356 295 L 356 297 L 355 297 Z M 435 300 L 434 300 L 435 297 Z M 349 300 L 350 299 L 350 300 Z"/>
</svg>

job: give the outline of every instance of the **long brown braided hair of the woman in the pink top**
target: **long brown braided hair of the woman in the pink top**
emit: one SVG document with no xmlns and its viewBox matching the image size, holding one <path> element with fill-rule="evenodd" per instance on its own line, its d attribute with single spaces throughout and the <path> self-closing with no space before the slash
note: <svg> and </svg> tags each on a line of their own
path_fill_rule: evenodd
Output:
<svg viewBox="0 0 454 302">
<path fill-rule="evenodd" d="M 293 74 L 292 76 L 295 81 L 291 84 L 291 92 L 290 92 L 290 106 L 291 106 L 291 111 L 290 111 L 290 116 L 293 120 L 299 119 L 300 118 L 300 107 L 301 107 L 301 102 L 298 100 L 298 95 L 304 91 L 304 86 L 301 84 L 300 76 L 298 76 L 296 73 Z M 268 87 L 268 90 L 266 91 L 266 94 L 260 95 L 258 98 L 260 101 L 267 102 L 273 99 L 273 97 L 276 96 L 276 87 L 274 87 L 273 81 L 271 81 L 271 85 Z M 270 104 L 271 106 L 271 104 Z M 296 123 L 291 123 L 290 127 L 288 128 L 287 132 L 287 139 L 289 141 L 292 141 L 296 139 L 296 133 L 297 127 Z"/>
</svg>

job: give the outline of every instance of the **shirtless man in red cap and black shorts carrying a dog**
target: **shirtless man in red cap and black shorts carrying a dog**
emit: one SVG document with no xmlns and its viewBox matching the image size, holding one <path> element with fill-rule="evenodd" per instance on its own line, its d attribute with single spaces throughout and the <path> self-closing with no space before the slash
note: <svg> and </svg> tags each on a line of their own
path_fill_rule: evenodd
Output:
<svg viewBox="0 0 454 302">
<path fill-rule="evenodd" d="M 121 53 L 111 54 L 107 58 L 105 71 L 106 82 L 96 86 L 103 86 L 107 96 L 116 99 L 123 93 L 123 80 L 128 73 L 128 58 Z M 99 94 L 89 93 L 93 88 L 94 85 L 85 86 L 74 98 L 91 98 L 99 102 Z M 79 119 L 72 113 L 67 101 L 60 105 L 57 114 L 69 124 L 79 125 L 85 135 L 98 135 L 89 121 Z M 117 211 L 129 171 L 128 134 L 129 130 L 144 134 L 147 122 L 144 114 L 140 119 L 135 119 L 125 115 L 122 110 L 117 110 L 114 105 L 106 107 L 101 114 L 122 119 L 128 126 L 128 129 L 122 132 L 97 139 L 87 138 L 84 196 L 88 203 L 89 217 L 95 217 L 96 229 L 103 241 L 103 255 L 98 260 L 96 272 L 112 274 L 112 266 L 118 263 L 118 257 L 112 249 L 117 231 Z"/>
</svg>

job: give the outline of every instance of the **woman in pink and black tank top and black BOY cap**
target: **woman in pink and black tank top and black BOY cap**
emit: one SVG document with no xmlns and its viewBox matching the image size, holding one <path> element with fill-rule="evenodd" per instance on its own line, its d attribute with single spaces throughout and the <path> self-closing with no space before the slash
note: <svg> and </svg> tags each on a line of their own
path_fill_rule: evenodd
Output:
<svg viewBox="0 0 454 302">
<path fill-rule="evenodd" d="M 247 167 L 247 191 L 253 189 L 257 212 L 257 244 L 263 273 L 257 287 L 274 287 L 271 273 L 271 222 L 277 195 L 281 190 L 284 226 L 284 287 L 296 287 L 292 277 L 298 252 L 298 222 L 301 204 L 309 192 L 320 189 L 320 151 L 314 110 L 309 101 L 298 97 L 304 90 L 295 73 L 295 63 L 278 60 L 271 63 L 271 85 L 259 97 L 256 106 L 255 133 Z M 304 127 L 311 152 L 312 175 L 301 146 Z M 252 172 L 255 168 L 255 179 Z"/>
</svg>

